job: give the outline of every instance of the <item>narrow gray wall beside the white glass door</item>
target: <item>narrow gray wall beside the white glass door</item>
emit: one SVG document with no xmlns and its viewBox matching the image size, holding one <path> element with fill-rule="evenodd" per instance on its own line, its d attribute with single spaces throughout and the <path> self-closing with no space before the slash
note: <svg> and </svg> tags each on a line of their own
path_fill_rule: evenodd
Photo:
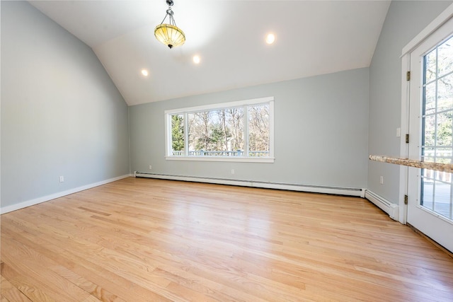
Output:
<svg viewBox="0 0 453 302">
<path fill-rule="evenodd" d="M 369 67 L 369 153 L 400 155 L 401 51 L 452 1 L 392 1 Z M 384 185 L 379 177 L 384 176 Z M 368 163 L 368 189 L 398 203 L 399 166 Z"/>
</svg>

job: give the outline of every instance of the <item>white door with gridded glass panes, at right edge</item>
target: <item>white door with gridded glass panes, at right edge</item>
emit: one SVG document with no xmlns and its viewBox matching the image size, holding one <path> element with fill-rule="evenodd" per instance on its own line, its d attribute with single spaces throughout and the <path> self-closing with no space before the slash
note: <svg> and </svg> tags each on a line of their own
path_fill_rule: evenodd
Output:
<svg viewBox="0 0 453 302">
<path fill-rule="evenodd" d="M 409 158 L 453 163 L 453 18 L 410 56 Z M 453 252 L 452 176 L 409 168 L 407 221 Z"/>
</svg>

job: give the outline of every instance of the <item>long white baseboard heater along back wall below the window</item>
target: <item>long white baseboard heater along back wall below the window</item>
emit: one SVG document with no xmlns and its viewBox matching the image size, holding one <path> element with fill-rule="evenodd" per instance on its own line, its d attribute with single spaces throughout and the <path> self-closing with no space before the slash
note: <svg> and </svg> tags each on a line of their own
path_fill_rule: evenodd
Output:
<svg viewBox="0 0 453 302">
<path fill-rule="evenodd" d="M 301 191 L 301 192 L 313 192 L 313 193 L 324 193 L 324 194 L 338 194 L 356 197 L 365 197 L 365 190 L 354 187 L 331 187 L 323 185 L 302 185 L 282 182 L 265 182 L 255 180 L 233 180 L 226 178 L 202 178 L 199 176 L 183 176 L 183 175 L 168 175 L 168 174 L 156 174 L 156 173 L 143 173 L 139 171 L 134 172 L 136 178 L 159 178 L 165 180 L 183 180 L 190 182 L 207 182 L 219 185 L 239 185 L 242 187 L 261 187 L 267 189 L 277 190 L 290 190 L 290 191 Z"/>
</svg>

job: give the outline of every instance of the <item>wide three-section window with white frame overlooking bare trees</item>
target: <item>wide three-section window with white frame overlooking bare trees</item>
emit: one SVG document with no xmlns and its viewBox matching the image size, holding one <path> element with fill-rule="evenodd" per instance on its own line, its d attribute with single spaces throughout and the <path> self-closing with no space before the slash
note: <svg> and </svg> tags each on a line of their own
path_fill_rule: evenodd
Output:
<svg viewBox="0 0 453 302">
<path fill-rule="evenodd" d="M 166 158 L 272 163 L 273 97 L 165 111 Z"/>
</svg>

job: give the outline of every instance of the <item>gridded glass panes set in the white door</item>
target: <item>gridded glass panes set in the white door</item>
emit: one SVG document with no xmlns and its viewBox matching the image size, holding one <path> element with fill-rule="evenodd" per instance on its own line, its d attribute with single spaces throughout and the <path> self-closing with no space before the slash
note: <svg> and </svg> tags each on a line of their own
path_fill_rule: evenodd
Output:
<svg viewBox="0 0 453 302">
<path fill-rule="evenodd" d="M 423 56 L 424 161 L 452 163 L 453 37 Z M 452 173 L 423 169 L 420 205 L 453 220 Z"/>
</svg>

